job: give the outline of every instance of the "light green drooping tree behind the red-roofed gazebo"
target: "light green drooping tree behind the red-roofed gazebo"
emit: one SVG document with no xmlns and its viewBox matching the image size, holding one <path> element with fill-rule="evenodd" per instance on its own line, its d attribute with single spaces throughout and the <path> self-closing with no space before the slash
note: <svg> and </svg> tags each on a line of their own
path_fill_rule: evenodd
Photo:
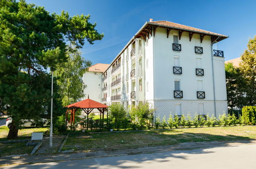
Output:
<svg viewBox="0 0 256 169">
<path fill-rule="evenodd" d="M 85 97 L 86 86 L 82 77 L 90 65 L 91 62 L 83 58 L 78 49 L 70 46 L 67 51 L 67 62 L 56 67 L 54 75 L 57 77 L 57 85 L 60 87 L 59 93 L 64 107 Z"/>
</svg>

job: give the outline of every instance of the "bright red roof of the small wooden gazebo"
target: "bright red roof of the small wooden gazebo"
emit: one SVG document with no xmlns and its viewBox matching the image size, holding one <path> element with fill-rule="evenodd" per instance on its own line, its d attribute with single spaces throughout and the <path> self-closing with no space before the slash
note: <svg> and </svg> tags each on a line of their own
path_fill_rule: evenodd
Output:
<svg viewBox="0 0 256 169">
<path fill-rule="evenodd" d="M 108 108 L 107 105 L 99 103 L 97 101 L 91 100 L 91 99 L 85 99 L 82 101 L 78 101 L 76 103 L 73 104 L 69 104 L 66 106 L 67 108 Z"/>
</svg>

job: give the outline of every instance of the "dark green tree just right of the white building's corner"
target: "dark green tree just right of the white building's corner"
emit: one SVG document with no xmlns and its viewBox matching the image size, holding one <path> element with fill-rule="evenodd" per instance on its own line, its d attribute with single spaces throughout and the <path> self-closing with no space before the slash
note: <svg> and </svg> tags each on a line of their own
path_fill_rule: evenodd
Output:
<svg viewBox="0 0 256 169">
<path fill-rule="evenodd" d="M 239 68 L 233 67 L 232 63 L 225 64 L 225 72 L 228 106 L 232 113 L 234 107 L 243 107 L 245 83 Z"/>
</svg>

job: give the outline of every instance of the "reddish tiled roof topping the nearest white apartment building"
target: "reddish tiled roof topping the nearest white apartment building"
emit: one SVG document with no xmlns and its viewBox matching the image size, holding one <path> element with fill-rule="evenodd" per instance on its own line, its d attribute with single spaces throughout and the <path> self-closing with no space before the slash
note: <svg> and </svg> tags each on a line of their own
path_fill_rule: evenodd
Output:
<svg viewBox="0 0 256 169">
<path fill-rule="evenodd" d="M 152 22 L 148 22 L 148 24 L 157 24 L 157 25 L 163 25 L 163 26 L 172 27 L 172 28 L 176 28 L 176 29 L 184 29 L 184 30 L 188 30 L 188 31 L 192 31 L 192 32 L 194 31 L 194 32 L 201 32 L 201 33 L 206 33 L 206 34 L 210 34 L 210 35 L 228 37 L 226 35 L 222 35 L 219 33 L 214 33 L 214 32 L 206 31 L 203 29 L 193 28 L 193 27 L 189 27 L 186 25 L 176 24 L 176 23 L 172 23 L 172 22 L 169 22 L 166 20 L 152 21 Z"/>
</svg>

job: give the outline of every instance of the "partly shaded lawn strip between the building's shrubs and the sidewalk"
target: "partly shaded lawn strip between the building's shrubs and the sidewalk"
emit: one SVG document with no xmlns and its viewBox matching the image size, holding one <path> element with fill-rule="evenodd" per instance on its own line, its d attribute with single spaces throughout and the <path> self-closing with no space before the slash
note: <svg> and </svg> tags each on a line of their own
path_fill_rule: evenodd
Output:
<svg viewBox="0 0 256 169">
<path fill-rule="evenodd" d="M 182 142 L 256 139 L 256 126 L 189 128 L 119 133 L 80 133 L 69 135 L 63 150 L 97 151 L 163 146 Z"/>
</svg>

